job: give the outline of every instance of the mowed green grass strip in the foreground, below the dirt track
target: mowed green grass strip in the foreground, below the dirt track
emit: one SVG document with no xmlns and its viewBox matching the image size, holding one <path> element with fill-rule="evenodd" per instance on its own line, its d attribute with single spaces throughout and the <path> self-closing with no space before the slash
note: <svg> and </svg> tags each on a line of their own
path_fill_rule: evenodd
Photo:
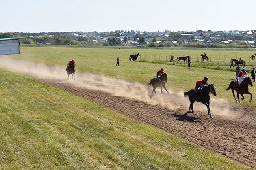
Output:
<svg viewBox="0 0 256 170">
<path fill-rule="evenodd" d="M 0 72 L 0 169 L 248 169 L 36 79 Z"/>
</svg>

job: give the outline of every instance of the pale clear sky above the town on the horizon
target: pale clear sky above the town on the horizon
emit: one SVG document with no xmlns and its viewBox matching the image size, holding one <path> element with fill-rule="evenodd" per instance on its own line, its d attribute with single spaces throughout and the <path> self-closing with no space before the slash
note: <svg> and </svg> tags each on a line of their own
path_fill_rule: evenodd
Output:
<svg viewBox="0 0 256 170">
<path fill-rule="evenodd" d="M 256 30 L 256 0 L 1 0 L 0 32 Z"/>
</svg>

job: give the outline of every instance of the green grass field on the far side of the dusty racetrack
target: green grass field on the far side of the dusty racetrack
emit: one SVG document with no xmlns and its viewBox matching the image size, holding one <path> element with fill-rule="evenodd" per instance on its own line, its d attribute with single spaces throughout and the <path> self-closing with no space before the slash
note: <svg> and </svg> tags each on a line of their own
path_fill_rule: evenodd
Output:
<svg viewBox="0 0 256 170">
<path fill-rule="evenodd" d="M 234 102 L 232 92 L 226 92 L 231 79 L 235 78 L 235 72 L 214 70 L 206 68 L 191 68 L 188 70 L 185 66 L 166 65 L 146 62 L 130 62 L 128 57 L 131 53 L 154 54 L 154 53 L 198 53 L 206 49 L 176 49 L 176 50 L 158 50 L 158 49 L 93 49 L 93 48 L 64 48 L 64 47 L 21 47 L 20 55 L 12 57 L 21 60 L 30 60 L 49 65 L 57 65 L 65 68 L 67 62 L 74 58 L 77 62 L 76 69 L 79 71 L 91 72 L 94 74 L 104 74 L 110 77 L 126 79 L 128 81 L 139 81 L 148 83 L 155 76 L 158 69 L 163 67 L 168 73 L 167 87 L 188 91 L 195 87 L 195 82 L 208 76 L 210 83 L 217 87 L 217 98 L 225 98 Z M 211 53 L 229 55 L 249 55 L 253 53 L 252 49 L 210 49 Z M 210 53 L 208 50 L 207 53 Z M 232 54 L 232 55 L 231 55 Z M 115 67 L 115 59 L 120 57 L 120 66 Z M 255 87 L 249 87 L 252 94 L 256 94 Z M 249 96 L 245 95 L 243 104 L 256 107 L 253 99 L 249 103 Z"/>
</svg>

